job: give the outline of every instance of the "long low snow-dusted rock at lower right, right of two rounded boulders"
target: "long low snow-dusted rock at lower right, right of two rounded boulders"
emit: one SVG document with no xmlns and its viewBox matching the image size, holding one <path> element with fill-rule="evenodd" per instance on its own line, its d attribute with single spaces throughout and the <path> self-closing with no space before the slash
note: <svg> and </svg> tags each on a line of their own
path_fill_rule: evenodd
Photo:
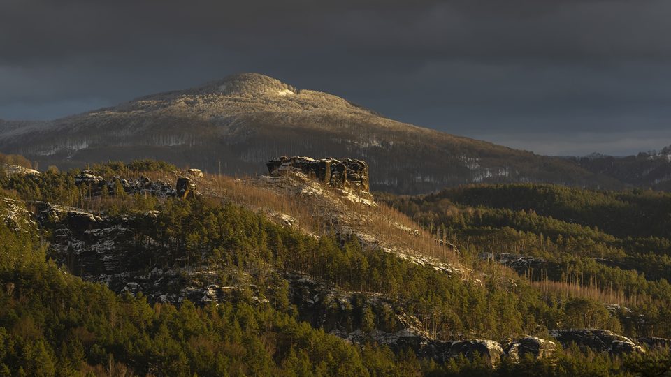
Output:
<svg viewBox="0 0 671 377">
<path fill-rule="evenodd" d="M 612 355 L 623 353 L 644 352 L 644 349 L 633 340 L 614 334 L 610 330 L 570 329 L 554 330 L 550 334 L 564 347 L 571 343 L 580 348 L 589 348 L 595 352 L 607 352 Z"/>
</svg>

